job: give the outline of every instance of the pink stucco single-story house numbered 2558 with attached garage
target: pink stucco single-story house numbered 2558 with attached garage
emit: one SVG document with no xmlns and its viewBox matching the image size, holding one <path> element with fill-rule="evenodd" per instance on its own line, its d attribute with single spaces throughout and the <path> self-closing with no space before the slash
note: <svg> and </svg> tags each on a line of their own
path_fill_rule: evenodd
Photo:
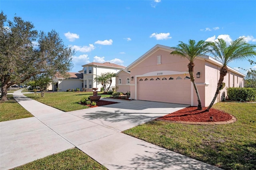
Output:
<svg viewBox="0 0 256 170">
<path fill-rule="evenodd" d="M 170 55 L 174 49 L 155 45 L 144 55 L 117 73 L 118 91 L 130 91 L 136 100 L 198 105 L 196 93 L 188 73 L 188 59 Z M 202 107 L 210 105 L 214 97 L 222 64 L 204 55 L 195 61 L 194 75 L 200 94 Z M 216 102 L 226 97 L 227 87 L 244 87 L 245 75 L 228 67 L 224 77 L 225 87 L 220 91 Z M 127 81 L 129 79 L 129 81 Z"/>
</svg>

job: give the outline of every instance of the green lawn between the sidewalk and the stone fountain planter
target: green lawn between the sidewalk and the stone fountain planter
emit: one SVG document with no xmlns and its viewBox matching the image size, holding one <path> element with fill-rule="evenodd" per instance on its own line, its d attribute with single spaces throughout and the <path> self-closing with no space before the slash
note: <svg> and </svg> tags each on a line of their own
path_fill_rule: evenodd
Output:
<svg viewBox="0 0 256 170">
<path fill-rule="evenodd" d="M 101 95 L 101 97 L 111 96 L 102 95 L 101 93 L 103 92 L 98 92 L 98 95 Z M 78 102 L 82 97 L 92 96 L 93 92 L 54 92 L 45 93 L 44 97 L 41 97 L 40 93 L 38 95 L 34 95 L 34 93 L 24 95 L 61 111 L 69 112 L 88 108 L 87 106 L 79 105 Z"/>
</svg>

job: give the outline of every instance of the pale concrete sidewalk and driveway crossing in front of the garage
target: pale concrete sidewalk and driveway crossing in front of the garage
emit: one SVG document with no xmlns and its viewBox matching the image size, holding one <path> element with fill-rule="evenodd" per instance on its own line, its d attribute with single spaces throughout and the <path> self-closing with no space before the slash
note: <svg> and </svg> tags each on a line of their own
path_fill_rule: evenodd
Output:
<svg viewBox="0 0 256 170">
<path fill-rule="evenodd" d="M 1 170 L 75 146 L 110 170 L 219 169 L 121 133 L 187 105 L 120 101 L 65 113 L 27 98 L 21 91 L 13 95 L 34 117 L 0 122 Z"/>
</svg>

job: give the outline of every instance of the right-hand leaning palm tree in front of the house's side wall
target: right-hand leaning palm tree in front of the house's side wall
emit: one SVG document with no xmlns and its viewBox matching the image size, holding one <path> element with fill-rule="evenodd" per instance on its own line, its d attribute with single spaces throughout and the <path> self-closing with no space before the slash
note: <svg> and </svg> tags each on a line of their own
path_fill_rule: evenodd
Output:
<svg viewBox="0 0 256 170">
<path fill-rule="evenodd" d="M 222 67 L 220 68 L 220 79 L 218 81 L 215 95 L 206 111 L 210 110 L 218 96 L 218 93 L 223 87 L 224 77 L 228 73 L 227 64 L 234 60 L 244 60 L 256 55 L 256 45 L 246 43 L 245 37 L 232 41 L 230 45 L 227 45 L 223 39 L 218 39 L 216 42 L 212 42 L 210 46 L 210 53 L 214 55 L 216 60 L 222 63 Z"/>
</svg>

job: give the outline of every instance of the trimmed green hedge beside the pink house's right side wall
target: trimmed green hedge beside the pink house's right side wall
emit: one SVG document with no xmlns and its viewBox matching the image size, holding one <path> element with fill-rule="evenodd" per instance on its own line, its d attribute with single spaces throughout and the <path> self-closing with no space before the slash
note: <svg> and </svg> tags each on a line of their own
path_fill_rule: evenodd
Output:
<svg viewBox="0 0 256 170">
<path fill-rule="evenodd" d="M 256 88 L 230 87 L 227 93 L 230 100 L 256 101 Z"/>
</svg>

